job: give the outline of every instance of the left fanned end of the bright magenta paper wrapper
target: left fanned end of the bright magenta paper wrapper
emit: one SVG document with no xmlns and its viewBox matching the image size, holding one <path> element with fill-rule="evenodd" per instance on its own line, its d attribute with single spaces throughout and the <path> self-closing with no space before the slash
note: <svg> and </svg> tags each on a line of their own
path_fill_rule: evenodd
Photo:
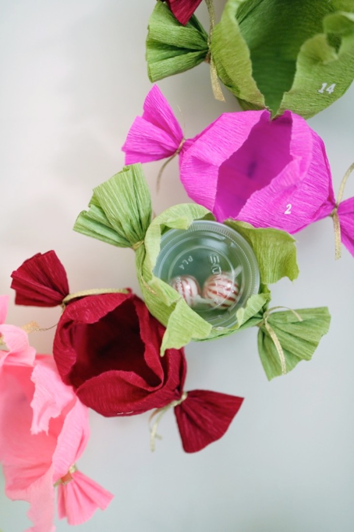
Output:
<svg viewBox="0 0 354 532">
<path fill-rule="evenodd" d="M 131 126 L 122 150 L 126 164 L 157 161 L 176 153 L 183 132 L 167 99 L 154 85 L 144 102 L 144 113 Z"/>
</svg>

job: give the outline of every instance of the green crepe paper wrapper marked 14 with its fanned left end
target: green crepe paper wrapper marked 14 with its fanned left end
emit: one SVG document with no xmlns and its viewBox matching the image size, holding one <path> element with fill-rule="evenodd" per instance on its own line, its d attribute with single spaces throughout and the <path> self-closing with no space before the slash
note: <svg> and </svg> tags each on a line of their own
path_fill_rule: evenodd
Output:
<svg viewBox="0 0 354 532">
<path fill-rule="evenodd" d="M 195 16 L 180 28 L 190 30 L 188 39 L 179 38 L 178 22 L 158 2 L 146 40 L 150 80 L 190 69 L 209 54 L 243 109 L 267 108 L 273 117 L 291 110 L 309 118 L 342 96 L 354 78 L 351 0 L 286 6 L 279 0 L 228 0 L 208 51 Z"/>
</svg>

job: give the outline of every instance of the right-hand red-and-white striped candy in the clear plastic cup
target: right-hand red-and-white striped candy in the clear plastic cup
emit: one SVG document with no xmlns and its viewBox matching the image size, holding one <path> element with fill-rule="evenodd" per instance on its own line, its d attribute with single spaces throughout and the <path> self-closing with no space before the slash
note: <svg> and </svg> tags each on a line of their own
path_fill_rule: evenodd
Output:
<svg viewBox="0 0 354 532">
<path fill-rule="evenodd" d="M 217 306 L 219 309 L 228 309 L 233 306 L 238 299 L 240 288 L 233 275 L 226 272 L 211 275 L 204 282 L 203 298 L 209 300 L 211 306 Z"/>
</svg>

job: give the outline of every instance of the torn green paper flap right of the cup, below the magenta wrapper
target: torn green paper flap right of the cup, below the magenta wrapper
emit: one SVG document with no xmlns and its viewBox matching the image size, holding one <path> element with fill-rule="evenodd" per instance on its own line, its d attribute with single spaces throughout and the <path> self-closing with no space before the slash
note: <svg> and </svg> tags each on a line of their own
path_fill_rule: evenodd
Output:
<svg viewBox="0 0 354 532">
<path fill-rule="evenodd" d="M 272 228 L 255 228 L 250 223 L 225 220 L 225 225 L 239 232 L 252 247 L 257 257 L 261 282 L 271 284 L 299 275 L 295 239 L 285 231 Z"/>
</svg>

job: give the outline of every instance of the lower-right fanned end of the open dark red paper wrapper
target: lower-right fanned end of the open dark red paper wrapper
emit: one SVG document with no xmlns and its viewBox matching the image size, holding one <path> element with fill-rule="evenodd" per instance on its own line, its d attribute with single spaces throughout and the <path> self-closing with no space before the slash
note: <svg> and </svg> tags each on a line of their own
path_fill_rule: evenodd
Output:
<svg viewBox="0 0 354 532">
<path fill-rule="evenodd" d="M 200 451 L 221 438 L 243 402 L 242 397 L 193 390 L 175 408 L 175 415 L 187 453 Z"/>
</svg>

